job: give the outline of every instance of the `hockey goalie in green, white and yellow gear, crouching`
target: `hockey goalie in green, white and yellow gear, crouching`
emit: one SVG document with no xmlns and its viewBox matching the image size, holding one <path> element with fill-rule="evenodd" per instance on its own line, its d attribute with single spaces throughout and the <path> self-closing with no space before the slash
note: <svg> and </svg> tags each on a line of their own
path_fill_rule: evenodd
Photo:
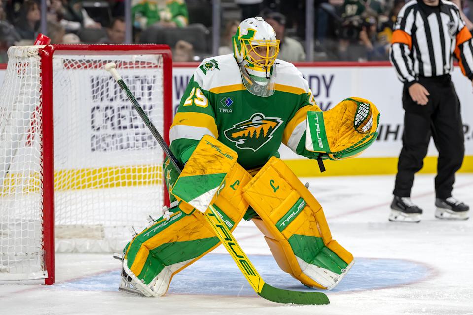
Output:
<svg viewBox="0 0 473 315">
<path fill-rule="evenodd" d="M 204 199 L 230 231 L 253 221 L 279 267 L 308 287 L 330 290 L 353 266 L 321 205 L 277 151 L 283 143 L 323 169 L 322 160 L 351 158 L 372 144 L 379 112 L 356 97 L 322 112 L 296 67 L 276 59 L 279 41 L 261 17 L 241 22 L 233 46 L 190 79 L 170 128 L 170 149 L 185 167 L 178 175 L 169 159 L 163 165 L 179 203 L 125 247 L 123 291 L 162 296 L 173 275 L 220 244 L 199 215 Z M 218 162 L 222 154 L 231 166 Z"/>
</svg>

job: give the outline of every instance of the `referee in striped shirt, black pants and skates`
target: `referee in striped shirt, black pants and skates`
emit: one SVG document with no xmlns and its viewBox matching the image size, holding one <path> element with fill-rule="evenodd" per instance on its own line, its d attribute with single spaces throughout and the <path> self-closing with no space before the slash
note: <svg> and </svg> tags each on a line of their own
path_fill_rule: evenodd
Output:
<svg viewBox="0 0 473 315">
<path fill-rule="evenodd" d="M 465 147 L 460 103 L 450 73 L 455 56 L 463 74 L 473 80 L 472 44 L 458 7 L 449 1 L 412 0 L 398 14 L 390 60 L 404 83 L 405 115 L 389 221 L 420 221 L 422 209 L 411 201 L 410 192 L 431 136 L 439 151 L 435 216 L 468 219 L 469 207 L 452 197 Z"/>
</svg>

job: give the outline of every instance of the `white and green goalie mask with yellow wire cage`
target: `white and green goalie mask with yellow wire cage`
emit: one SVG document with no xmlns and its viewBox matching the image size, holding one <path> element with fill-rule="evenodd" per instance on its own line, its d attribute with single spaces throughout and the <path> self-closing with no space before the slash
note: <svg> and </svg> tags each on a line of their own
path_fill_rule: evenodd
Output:
<svg viewBox="0 0 473 315">
<path fill-rule="evenodd" d="M 274 93 L 279 40 L 262 17 L 244 20 L 233 36 L 233 51 L 246 89 L 257 96 Z"/>
</svg>

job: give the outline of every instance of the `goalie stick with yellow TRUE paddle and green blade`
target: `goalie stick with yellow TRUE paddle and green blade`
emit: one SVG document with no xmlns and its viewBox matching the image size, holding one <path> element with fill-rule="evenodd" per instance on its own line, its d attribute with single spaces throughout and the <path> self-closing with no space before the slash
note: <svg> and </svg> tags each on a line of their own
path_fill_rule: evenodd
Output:
<svg viewBox="0 0 473 315">
<path fill-rule="evenodd" d="M 177 158 L 174 154 L 170 151 L 168 145 L 163 140 L 161 135 L 159 134 L 158 130 L 155 128 L 153 123 L 149 120 L 146 113 L 143 111 L 141 106 L 135 99 L 135 96 L 130 92 L 125 82 L 122 80 L 120 74 L 116 69 L 115 63 L 107 63 L 105 65 L 105 70 L 110 72 L 113 78 L 117 81 L 120 88 L 125 92 L 130 102 L 135 107 L 136 111 L 138 112 L 141 119 L 143 119 L 146 126 L 149 128 L 153 136 L 158 141 L 159 145 L 169 157 L 171 162 L 176 167 L 177 171 L 181 172 L 182 166 L 180 165 Z M 230 256 L 232 256 L 233 260 L 235 261 L 236 265 L 248 280 L 248 283 L 253 287 L 255 292 L 272 302 L 277 303 L 294 303 L 294 304 L 329 304 L 329 299 L 325 293 L 322 292 L 301 292 L 301 291 L 291 291 L 273 287 L 267 284 L 263 278 L 258 274 L 256 268 L 253 266 L 251 261 L 248 259 L 246 254 L 243 252 L 239 244 L 236 242 L 236 239 L 233 237 L 232 233 L 228 229 L 227 225 L 220 221 L 220 216 L 218 215 L 215 208 L 210 205 L 203 213 L 203 216 L 208 221 L 210 226 L 212 227 L 213 231 L 217 238 L 222 242 L 222 244 L 227 249 Z"/>
</svg>

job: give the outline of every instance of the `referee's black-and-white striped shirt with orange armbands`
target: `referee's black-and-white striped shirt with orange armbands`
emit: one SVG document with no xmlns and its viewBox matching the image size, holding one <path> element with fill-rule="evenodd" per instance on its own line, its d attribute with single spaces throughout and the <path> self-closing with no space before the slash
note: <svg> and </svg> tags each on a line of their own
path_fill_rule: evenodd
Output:
<svg viewBox="0 0 473 315">
<path fill-rule="evenodd" d="M 458 7 L 440 0 L 439 6 L 412 0 L 399 11 L 389 59 L 399 79 L 408 86 L 419 76 L 450 74 L 453 56 L 465 76 L 473 79 L 472 35 Z"/>
</svg>

